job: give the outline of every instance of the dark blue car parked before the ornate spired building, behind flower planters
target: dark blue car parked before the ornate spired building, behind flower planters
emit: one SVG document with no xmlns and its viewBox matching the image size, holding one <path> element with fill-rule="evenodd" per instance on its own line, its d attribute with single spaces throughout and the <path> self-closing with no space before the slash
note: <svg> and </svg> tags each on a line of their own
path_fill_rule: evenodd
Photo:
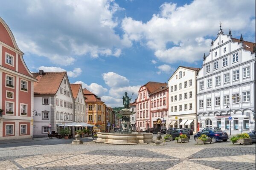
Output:
<svg viewBox="0 0 256 170">
<path fill-rule="evenodd" d="M 217 142 L 217 141 L 223 141 L 227 142 L 228 135 L 226 132 L 221 132 L 219 130 L 204 130 L 201 133 L 198 133 L 194 136 L 194 139 L 198 139 L 201 135 L 207 135 L 212 139 L 212 142 Z"/>
</svg>

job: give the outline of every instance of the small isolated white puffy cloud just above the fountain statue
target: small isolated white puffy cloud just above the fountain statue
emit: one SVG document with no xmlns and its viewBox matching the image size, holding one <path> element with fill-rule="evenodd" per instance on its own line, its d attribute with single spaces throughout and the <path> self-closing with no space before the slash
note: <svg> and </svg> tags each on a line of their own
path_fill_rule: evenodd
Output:
<svg viewBox="0 0 256 170">
<path fill-rule="evenodd" d="M 129 80 L 114 72 L 103 73 L 102 75 L 106 85 L 111 88 L 118 88 L 122 86 L 129 85 Z"/>
</svg>

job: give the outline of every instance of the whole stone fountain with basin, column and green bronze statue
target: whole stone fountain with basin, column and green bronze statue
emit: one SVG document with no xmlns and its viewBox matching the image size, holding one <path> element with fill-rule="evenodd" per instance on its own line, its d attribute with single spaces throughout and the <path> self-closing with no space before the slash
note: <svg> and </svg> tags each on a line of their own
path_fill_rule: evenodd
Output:
<svg viewBox="0 0 256 170">
<path fill-rule="evenodd" d="M 98 138 L 94 140 L 96 143 L 108 143 L 108 144 L 148 144 L 153 141 L 152 133 L 144 132 L 132 132 L 130 115 L 135 112 L 129 110 L 131 98 L 123 96 L 124 108 L 118 113 L 122 115 L 122 130 L 120 132 L 98 132 Z"/>
</svg>

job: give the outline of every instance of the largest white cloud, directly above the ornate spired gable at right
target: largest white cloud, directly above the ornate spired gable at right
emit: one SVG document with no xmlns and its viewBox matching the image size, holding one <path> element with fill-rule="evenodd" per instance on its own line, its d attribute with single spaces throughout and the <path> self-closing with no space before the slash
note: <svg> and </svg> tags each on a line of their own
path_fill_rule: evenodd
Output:
<svg viewBox="0 0 256 170">
<path fill-rule="evenodd" d="M 123 37 L 147 45 L 162 62 L 193 63 L 209 51 L 208 37 L 217 37 L 220 21 L 224 33 L 231 28 L 233 37 L 246 33 L 244 39 L 255 41 L 255 1 L 249 0 L 195 0 L 184 6 L 163 3 L 159 14 L 146 23 L 125 17 L 122 29 Z M 174 46 L 169 47 L 170 43 Z"/>
</svg>

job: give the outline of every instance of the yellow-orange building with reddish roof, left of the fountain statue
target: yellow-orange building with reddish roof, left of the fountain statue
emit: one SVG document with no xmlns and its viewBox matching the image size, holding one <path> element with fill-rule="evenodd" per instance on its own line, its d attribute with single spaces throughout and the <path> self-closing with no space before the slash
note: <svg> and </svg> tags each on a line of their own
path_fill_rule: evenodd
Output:
<svg viewBox="0 0 256 170">
<path fill-rule="evenodd" d="M 106 130 L 106 105 L 86 88 L 83 89 L 84 98 L 86 103 L 86 122 L 95 125 L 99 131 L 105 132 Z M 98 130 L 94 127 L 94 130 Z"/>
</svg>

